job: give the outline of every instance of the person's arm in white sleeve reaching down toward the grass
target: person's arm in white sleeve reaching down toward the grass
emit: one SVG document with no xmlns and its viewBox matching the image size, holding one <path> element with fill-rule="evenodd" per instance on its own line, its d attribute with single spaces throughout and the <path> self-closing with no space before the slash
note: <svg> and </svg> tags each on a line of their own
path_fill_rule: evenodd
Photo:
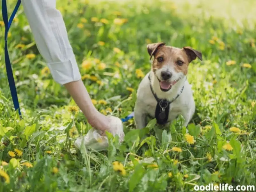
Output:
<svg viewBox="0 0 256 192">
<path fill-rule="evenodd" d="M 66 87 L 88 122 L 102 131 L 109 129 L 109 118 L 93 106 L 81 80 L 79 68 L 56 0 L 21 0 L 36 46 L 47 62 L 53 79 Z"/>
</svg>

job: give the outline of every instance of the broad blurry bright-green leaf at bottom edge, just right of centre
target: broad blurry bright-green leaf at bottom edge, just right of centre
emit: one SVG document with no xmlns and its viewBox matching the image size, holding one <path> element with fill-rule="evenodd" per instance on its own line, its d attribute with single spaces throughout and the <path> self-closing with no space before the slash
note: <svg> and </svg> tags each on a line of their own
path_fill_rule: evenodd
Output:
<svg viewBox="0 0 256 192">
<path fill-rule="evenodd" d="M 129 180 L 129 192 L 132 192 L 133 189 L 137 186 L 137 184 L 140 183 L 140 180 L 145 175 L 145 173 L 146 170 L 142 164 L 138 164 L 135 167 L 134 172 Z"/>
</svg>

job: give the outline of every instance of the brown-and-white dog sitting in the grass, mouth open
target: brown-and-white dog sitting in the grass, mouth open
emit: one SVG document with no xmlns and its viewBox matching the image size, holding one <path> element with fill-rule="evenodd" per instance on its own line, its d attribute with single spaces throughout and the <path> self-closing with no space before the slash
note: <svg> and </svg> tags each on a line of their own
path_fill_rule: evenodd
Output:
<svg viewBox="0 0 256 192">
<path fill-rule="evenodd" d="M 150 72 L 142 79 L 134 106 L 136 128 L 147 125 L 147 116 L 156 118 L 157 124 L 168 125 L 178 115 L 187 127 L 195 113 L 195 101 L 186 75 L 188 65 L 202 53 L 191 47 L 177 48 L 165 43 L 147 45 L 152 61 Z"/>
</svg>

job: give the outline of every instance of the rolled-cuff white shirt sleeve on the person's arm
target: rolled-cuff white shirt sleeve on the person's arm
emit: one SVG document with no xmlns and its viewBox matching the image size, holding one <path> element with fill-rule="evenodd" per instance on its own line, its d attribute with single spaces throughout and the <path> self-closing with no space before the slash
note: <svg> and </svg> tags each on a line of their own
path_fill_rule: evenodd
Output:
<svg viewBox="0 0 256 192">
<path fill-rule="evenodd" d="M 81 78 L 56 0 L 21 0 L 36 46 L 53 79 L 63 85 Z"/>
</svg>

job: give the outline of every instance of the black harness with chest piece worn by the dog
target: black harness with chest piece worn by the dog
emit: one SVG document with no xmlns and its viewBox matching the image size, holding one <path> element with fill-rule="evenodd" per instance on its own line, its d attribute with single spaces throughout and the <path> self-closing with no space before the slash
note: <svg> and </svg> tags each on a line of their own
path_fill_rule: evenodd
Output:
<svg viewBox="0 0 256 192">
<path fill-rule="evenodd" d="M 153 88 L 152 88 L 152 85 L 151 85 L 151 82 L 150 82 L 150 76 L 148 75 L 148 79 L 149 79 L 149 86 L 150 86 L 150 89 L 151 89 L 151 92 L 152 94 L 154 95 L 156 101 L 157 101 L 157 104 L 156 104 L 156 111 L 155 111 L 155 118 L 156 118 L 156 122 L 158 124 L 166 124 L 167 121 L 168 121 L 168 117 L 169 117 L 169 110 L 170 110 L 170 104 L 176 100 L 180 94 L 183 92 L 183 89 L 184 89 L 184 85 L 183 87 L 181 88 L 180 90 L 180 93 L 172 99 L 172 101 L 168 101 L 166 99 L 159 99 L 156 94 L 154 93 L 153 91 Z M 187 79 L 187 77 L 186 77 Z"/>
</svg>

